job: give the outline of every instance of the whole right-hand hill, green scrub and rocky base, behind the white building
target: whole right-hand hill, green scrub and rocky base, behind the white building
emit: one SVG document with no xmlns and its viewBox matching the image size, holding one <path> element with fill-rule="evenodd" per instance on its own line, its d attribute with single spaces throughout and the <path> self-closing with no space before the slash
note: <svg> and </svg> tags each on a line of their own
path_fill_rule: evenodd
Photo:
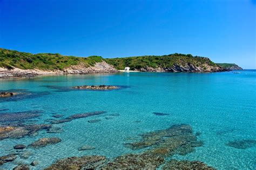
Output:
<svg viewBox="0 0 256 170">
<path fill-rule="evenodd" d="M 137 71 L 158 71 L 158 72 L 211 72 L 224 71 L 224 69 L 213 63 L 206 57 L 193 57 L 174 53 L 164 56 L 139 56 L 125 58 L 105 59 L 107 63 L 113 65 L 117 70 L 129 66 L 131 70 Z"/>
</svg>

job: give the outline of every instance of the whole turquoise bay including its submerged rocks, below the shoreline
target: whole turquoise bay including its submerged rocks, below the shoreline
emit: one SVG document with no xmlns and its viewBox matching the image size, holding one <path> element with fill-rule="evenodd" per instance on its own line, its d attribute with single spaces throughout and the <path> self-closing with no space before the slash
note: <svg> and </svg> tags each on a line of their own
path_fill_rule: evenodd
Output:
<svg viewBox="0 0 256 170">
<path fill-rule="evenodd" d="M 166 169 L 178 164 L 254 169 L 256 71 L 238 72 L 116 72 L 0 79 L 1 92 L 23 94 L 0 98 L 1 127 L 23 130 L 19 136 L 3 136 L 0 131 L 0 157 L 16 157 L 0 168 L 25 164 L 43 169 L 59 159 L 100 155 L 83 159 L 104 161 L 103 168 L 121 167 L 120 161 L 137 157 Z M 84 85 L 120 88 L 71 88 Z M 170 145 L 173 143 L 177 145 Z M 150 157 L 152 154 L 157 157 Z M 52 167 L 61 167 L 60 163 Z"/>
</svg>

